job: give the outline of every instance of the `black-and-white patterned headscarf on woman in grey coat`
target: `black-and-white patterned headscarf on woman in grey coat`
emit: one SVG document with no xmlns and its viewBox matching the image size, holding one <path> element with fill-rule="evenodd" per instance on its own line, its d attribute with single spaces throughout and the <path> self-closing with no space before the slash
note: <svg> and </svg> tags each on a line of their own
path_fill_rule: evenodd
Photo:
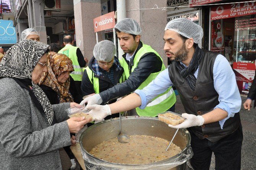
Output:
<svg viewBox="0 0 256 170">
<path fill-rule="evenodd" d="M 49 45 L 34 40 L 23 40 L 13 45 L 0 63 L 0 77 L 31 79 L 32 71 L 40 58 L 49 51 Z M 52 125 L 54 112 L 49 99 L 32 79 L 32 92 L 42 105 L 49 125 Z"/>
</svg>

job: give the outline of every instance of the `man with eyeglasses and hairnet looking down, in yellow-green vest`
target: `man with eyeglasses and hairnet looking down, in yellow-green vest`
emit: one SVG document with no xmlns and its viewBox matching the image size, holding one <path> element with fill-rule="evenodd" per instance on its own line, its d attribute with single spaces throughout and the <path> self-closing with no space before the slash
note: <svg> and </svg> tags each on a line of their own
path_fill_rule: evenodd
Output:
<svg viewBox="0 0 256 170">
<path fill-rule="evenodd" d="M 94 47 L 93 55 L 94 57 L 92 57 L 83 73 L 81 84 L 83 96 L 99 94 L 125 81 L 123 67 L 120 65 L 118 58 L 115 57 L 113 42 L 109 40 L 98 42 Z M 118 117 L 118 115 L 110 115 L 105 119 L 114 117 Z"/>
</svg>

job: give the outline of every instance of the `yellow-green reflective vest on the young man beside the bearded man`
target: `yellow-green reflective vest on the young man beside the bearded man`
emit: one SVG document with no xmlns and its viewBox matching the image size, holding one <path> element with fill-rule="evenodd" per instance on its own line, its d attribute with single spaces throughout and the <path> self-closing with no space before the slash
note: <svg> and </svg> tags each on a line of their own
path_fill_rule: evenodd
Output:
<svg viewBox="0 0 256 170">
<path fill-rule="evenodd" d="M 155 53 L 161 59 L 161 61 L 162 61 L 161 71 L 165 70 L 165 66 L 164 66 L 163 60 L 160 57 L 160 55 L 155 50 L 153 50 L 149 45 L 143 44 L 143 46 L 138 50 L 138 52 L 136 53 L 136 55 L 134 57 L 133 67 L 131 68 L 131 72 L 138 66 L 140 58 L 145 53 L 149 53 L 149 52 Z M 126 78 L 128 78 L 130 76 L 129 66 L 123 57 L 122 57 L 122 64 L 123 64 L 122 66 L 125 70 Z M 154 80 L 156 78 L 156 76 L 161 71 L 159 71 L 157 73 L 151 73 L 147 77 L 147 79 L 143 83 L 141 83 L 141 85 L 138 87 L 138 89 L 141 90 L 144 87 L 146 87 L 152 80 Z M 173 92 L 172 87 L 169 87 L 164 93 L 159 94 L 157 97 L 152 99 L 151 102 L 149 102 L 147 104 L 146 108 L 140 109 L 139 107 L 137 107 L 136 112 L 140 116 L 155 117 L 155 116 L 157 116 L 157 114 L 168 110 L 170 107 L 172 107 L 173 104 L 175 104 L 175 102 L 176 102 L 175 93 Z"/>
</svg>

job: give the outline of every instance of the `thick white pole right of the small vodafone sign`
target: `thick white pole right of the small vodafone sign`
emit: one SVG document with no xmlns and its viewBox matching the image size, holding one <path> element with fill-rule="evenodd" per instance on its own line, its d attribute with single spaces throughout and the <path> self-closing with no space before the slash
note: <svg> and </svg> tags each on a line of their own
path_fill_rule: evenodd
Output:
<svg viewBox="0 0 256 170">
<path fill-rule="evenodd" d="M 126 7 L 125 0 L 117 0 L 117 22 L 126 18 Z M 120 42 L 118 40 L 118 58 L 122 58 L 123 50 L 120 47 Z"/>
</svg>

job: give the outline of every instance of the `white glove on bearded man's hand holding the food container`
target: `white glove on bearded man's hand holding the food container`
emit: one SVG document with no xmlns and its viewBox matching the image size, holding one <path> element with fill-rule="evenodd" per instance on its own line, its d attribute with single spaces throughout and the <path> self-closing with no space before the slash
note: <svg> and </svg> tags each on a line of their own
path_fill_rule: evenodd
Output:
<svg viewBox="0 0 256 170">
<path fill-rule="evenodd" d="M 168 125 L 168 126 L 171 128 L 180 129 L 180 128 L 189 128 L 192 126 L 201 126 L 204 124 L 204 118 L 200 115 L 196 116 L 188 113 L 183 113 L 181 116 L 186 120 L 180 123 L 179 125 L 176 125 L 176 126 Z"/>
</svg>

